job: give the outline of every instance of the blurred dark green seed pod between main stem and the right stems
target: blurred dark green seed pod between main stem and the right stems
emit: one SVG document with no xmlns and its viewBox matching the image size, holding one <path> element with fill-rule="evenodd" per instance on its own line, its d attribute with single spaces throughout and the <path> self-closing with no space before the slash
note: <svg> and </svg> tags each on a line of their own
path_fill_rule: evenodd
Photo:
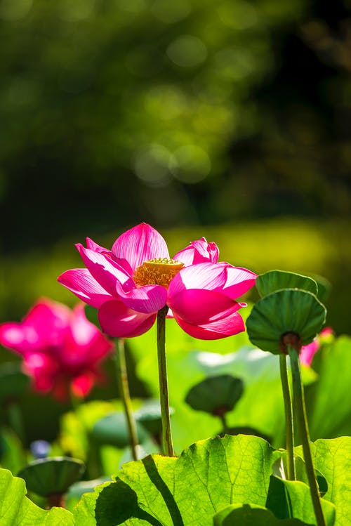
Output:
<svg viewBox="0 0 351 526">
<path fill-rule="evenodd" d="M 208 376 L 190 389 L 185 402 L 196 411 L 221 416 L 234 408 L 243 390 L 243 381 L 230 374 Z"/>
</svg>

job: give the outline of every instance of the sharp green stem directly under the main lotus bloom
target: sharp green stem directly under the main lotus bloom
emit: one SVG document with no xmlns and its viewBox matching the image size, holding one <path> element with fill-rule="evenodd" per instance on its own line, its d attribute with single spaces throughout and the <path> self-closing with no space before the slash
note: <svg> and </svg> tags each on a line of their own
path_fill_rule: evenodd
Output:
<svg viewBox="0 0 351 526">
<path fill-rule="evenodd" d="M 164 454 L 174 456 L 171 418 L 169 414 L 168 402 L 168 380 L 166 363 L 166 315 L 168 307 L 161 308 L 157 313 L 157 359 L 159 362 L 159 396 L 161 404 L 162 421 L 162 445 Z"/>
</svg>

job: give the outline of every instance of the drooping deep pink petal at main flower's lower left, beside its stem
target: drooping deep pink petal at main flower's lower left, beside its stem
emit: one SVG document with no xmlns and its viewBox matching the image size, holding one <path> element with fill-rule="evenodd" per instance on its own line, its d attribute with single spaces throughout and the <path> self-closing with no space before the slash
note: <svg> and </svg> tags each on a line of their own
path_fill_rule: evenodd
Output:
<svg viewBox="0 0 351 526">
<path fill-rule="evenodd" d="M 148 331 L 157 314 L 137 313 L 118 300 L 107 301 L 99 309 L 102 330 L 115 338 L 131 338 Z"/>
</svg>

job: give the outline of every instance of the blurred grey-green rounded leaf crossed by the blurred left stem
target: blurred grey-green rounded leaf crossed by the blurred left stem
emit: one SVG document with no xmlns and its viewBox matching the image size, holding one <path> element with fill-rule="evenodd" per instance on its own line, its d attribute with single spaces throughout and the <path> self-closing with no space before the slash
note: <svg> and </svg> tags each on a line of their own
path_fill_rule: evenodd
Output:
<svg viewBox="0 0 351 526">
<path fill-rule="evenodd" d="M 136 423 L 138 441 L 140 444 L 147 438 L 147 433 L 143 426 Z M 129 432 L 126 423 L 126 416 L 122 412 L 114 412 L 103 416 L 95 422 L 91 430 L 91 436 L 100 444 L 115 447 L 127 447 L 129 445 Z"/>
</svg>

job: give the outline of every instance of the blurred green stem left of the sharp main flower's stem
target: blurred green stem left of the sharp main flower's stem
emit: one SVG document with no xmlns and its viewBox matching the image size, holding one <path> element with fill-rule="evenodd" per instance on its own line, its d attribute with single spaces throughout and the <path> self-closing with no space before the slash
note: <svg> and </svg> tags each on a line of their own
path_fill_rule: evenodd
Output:
<svg viewBox="0 0 351 526">
<path fill-rule="evenodd" d="M 124 414 L 126 415 L 132 456 L 134 460 L 138 460 L 138 435 L 136 432 L 136 424 L 131 405 L 131 395 L 129 394 L 124 338 L 116 338 L 116 364 L 117 381 L 119 383 L 119 396 L 121 397 L 124 407 Z"/>
</svg>

